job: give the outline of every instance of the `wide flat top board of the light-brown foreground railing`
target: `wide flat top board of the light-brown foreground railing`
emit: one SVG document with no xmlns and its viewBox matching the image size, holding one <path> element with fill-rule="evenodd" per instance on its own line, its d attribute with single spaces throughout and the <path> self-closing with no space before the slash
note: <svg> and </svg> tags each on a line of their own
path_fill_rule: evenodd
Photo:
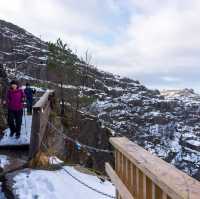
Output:
<svg viewBox="0 0 200 199">
<path fill-rule="evenodd" d="M 127 138 L 111 138 L 111 144 L 123 153 L 163 192 L 173 199 L 199 199 L 200 182 L 174 166 L 150 154 Z"/>
</svg>

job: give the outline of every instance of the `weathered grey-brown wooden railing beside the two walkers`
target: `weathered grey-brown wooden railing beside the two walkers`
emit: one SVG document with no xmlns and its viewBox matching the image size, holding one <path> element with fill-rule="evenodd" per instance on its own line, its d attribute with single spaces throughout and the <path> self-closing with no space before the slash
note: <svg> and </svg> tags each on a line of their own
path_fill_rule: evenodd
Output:
<svg viewBox="0 0 200 199">
<path fill-rule="evenodd" d="M 41 142 L 47 127 L 49 114 L 52 108 L 54 91 L 46 91 L 33 106 L 31 127 L 31 140 L 29 146 L 29 158 L 32 159 L 40 150 Z"/>
</svg>

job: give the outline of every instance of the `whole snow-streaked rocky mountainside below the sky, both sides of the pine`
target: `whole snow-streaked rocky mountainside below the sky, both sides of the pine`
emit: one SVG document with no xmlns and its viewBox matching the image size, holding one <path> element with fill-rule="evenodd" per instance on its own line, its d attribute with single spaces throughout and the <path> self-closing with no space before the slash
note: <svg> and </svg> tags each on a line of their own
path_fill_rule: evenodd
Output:
<svg viewBox="0 0 200 199">
<path fill-rule="evenodd" d="M 0 24 L 4 63 L 13 67 L 16 57 L 22 74 L 45 80 L 47 44 L 13 24 Z M 200 180 L 199 95 L 189 89 L 150 90 L 138 81 L 83 63 L 76 63 L 74 68 L 74 77 L 84 79 L 84 84 L 72 78 L 64 88 L 66 96 L 81 87 L 80 96 L 93 98 L 82 111 L 96 115 L 113 134 L 130 138 Z M 49 79 L 48 83 L 55 84 L 53 81 Z"/>
</svg>

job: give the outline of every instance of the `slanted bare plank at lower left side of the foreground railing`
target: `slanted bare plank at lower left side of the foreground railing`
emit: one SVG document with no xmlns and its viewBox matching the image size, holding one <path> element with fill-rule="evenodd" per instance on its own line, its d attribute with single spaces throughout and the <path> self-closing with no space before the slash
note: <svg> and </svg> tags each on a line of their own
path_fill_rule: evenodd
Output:
<svg viewBox="0 0 200 199">
<path fill-rule="evenodd" d="M 128 191 L 127 187 L 112 169 L 109 163 L 106 163 L 106 172 L 109 175 L 111 181 L 116 186 L 117 190 L 120 193 L 121 198 L 123 199 L 134 199 L 131 193 Z"/>
</svg>

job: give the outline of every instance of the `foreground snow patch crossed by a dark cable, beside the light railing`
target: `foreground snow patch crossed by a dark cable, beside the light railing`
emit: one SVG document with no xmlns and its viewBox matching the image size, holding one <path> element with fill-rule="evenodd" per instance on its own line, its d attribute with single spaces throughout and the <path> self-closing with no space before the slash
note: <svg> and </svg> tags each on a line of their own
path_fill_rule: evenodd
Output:
<svg viewBox="0 0 200 199">
<path fill-rule="evenodd" d="M 109 181 L 101 182 L 96 176 L 81 173 L 73 167 L 64 168 L 89 186 L 109 195 L 115 195 L 115 188 Z M 83 186 L 64 170 L 31 170 L 30 173 L 18 174 L 14 181 L 13 188 L 20 199 L 108 199 L 107 196 Z"/>
</svg>

